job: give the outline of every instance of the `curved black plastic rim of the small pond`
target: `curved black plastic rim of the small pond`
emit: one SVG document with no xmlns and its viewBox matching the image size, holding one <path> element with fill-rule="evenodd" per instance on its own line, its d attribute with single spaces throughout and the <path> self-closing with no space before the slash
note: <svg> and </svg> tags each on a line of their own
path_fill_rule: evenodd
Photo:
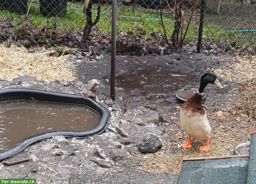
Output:
<svg viewBox="0 0 256 184">
<path fill-rule="evenodd" d="M 0 102 L 8 100 L 36 100 L 44 102 L 59 102 L 86 105 L 94 109 L 101 115 L 98 126 L 86 132 L 69 132 L 69 131 L 51 131 L 41 133 L 35 136 L 30 136 L 14 145 L 12 148 L 0 153 L 0 160 L 14 156 L 23 151 L 30 144 L 40 141 L 42 139 L 51 138 L 53 136 L 65 136 L 66 138 L 88 138 L 92 135 L 102 133 L 108 125 L 110 113 L 106 108 L 88 97 L 79 96 L 75 94 L 56 93 L 50 91 L 30 90 L 24 88 L 9 88 L 0 90 Z"/>
</svg>

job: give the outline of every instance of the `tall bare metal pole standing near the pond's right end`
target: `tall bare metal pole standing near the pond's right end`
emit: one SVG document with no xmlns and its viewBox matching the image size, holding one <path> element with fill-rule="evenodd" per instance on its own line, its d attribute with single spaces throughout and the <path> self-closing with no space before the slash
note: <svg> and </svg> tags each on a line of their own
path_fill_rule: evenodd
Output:
<svg viewBox="0 0 256 184">
<path fill-rule="evenodd" d="M 112 19 L 111 19 L 111 74 L 110 74 L 110 97 L 112 100 L 116 96 L 115 77 L 116 77 L 116 18 L 117 0 L 112 0 Z"/>
</svg>

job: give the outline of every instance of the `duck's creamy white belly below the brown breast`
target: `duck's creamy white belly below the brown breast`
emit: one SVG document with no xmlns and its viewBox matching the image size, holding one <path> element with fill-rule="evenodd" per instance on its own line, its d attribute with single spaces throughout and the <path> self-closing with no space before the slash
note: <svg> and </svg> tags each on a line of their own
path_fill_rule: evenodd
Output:
<svg viewBox="0 0 256 184">
<path fill-rule="evenodd" d="M 192 138 L 201 141 L 209 137 L 211 133 L 211 126 L 209 125 L 206 111 L 204 115 L 201 115 L 181 108 L 181 126 Z"/>
</svg>

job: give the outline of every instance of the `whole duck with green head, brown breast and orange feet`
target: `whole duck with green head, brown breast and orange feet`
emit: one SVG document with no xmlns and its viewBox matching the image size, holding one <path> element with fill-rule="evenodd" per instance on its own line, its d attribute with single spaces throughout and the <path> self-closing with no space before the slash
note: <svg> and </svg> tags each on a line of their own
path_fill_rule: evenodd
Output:
<svg viewBox="0 0 256 184">
<path fill-rule="evenodd" d="M 206 110 L 202 105 L 203 91 L 208 84 L 223 86 L 218 81 L 217 75 L 207 72 L 202 75 L 199 90 L 184 102 L 180 108 L 181 127 L 188 133 L 188 142 L 181 144 L 182 148 L 191 148 L 191 138 L 204 141 L 206 145 L 200 146 L 200 151 L 208 152 L 211 126 L 208 122 Z"/>
</svg>

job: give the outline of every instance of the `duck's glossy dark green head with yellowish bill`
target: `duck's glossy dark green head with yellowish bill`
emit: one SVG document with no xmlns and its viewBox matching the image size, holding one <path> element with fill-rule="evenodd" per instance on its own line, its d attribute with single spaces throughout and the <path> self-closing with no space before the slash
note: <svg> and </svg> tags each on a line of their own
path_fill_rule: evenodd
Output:
<svg viewBox="0 0 256 184">
<path fill-rule="evenodd" d="M 215 84 L 220 88 L 223 88 L 223 86 L 220 84 L 217 75 L 212 72 L 207 72 L 203 74 L 201 77 L 200 87 L 199 87 L 199 93 L 203 93 L 203 90 L 205 89 L 207 84 Z"/>
</svg>

